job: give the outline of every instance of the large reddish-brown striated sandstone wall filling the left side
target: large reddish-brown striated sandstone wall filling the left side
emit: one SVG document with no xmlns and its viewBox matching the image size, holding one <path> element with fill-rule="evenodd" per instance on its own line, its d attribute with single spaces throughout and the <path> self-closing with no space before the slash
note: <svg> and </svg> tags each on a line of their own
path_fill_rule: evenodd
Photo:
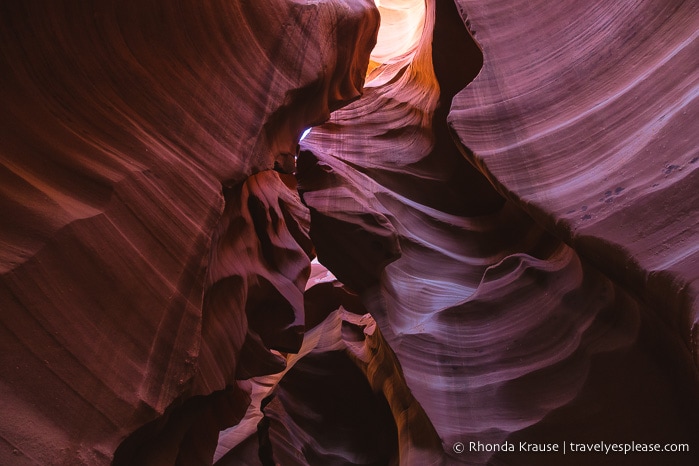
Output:
<svg viewBox="0 0 699 466">
<path fill-rule="evenodd" d="M 377 12 L 6 2 L 0 22 L 0 463 L 106 464 L 136 430 L 119 461 L 160 436 L 157 461 L 187 463 L 187 410 L 235 424 L 236 377 L 300 345 L 307 214 L 271 169 L 359 95 Z"/>
</svg>

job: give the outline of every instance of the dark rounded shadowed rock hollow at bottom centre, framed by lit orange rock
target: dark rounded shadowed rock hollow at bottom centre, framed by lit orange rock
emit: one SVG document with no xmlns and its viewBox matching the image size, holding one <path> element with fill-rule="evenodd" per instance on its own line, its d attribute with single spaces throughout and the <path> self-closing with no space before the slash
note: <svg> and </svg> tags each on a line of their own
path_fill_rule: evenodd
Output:
<svg viewBox="0 0 699 466">
<path fill-rule="evenodd" d="M 311 353 L 284 376 L 264 408 L 276 464 L 379 466 L 398 458 L 386 398 L 343 351 Z M 298 432 L 305 435 L 299 436 Z"/>
</svg>

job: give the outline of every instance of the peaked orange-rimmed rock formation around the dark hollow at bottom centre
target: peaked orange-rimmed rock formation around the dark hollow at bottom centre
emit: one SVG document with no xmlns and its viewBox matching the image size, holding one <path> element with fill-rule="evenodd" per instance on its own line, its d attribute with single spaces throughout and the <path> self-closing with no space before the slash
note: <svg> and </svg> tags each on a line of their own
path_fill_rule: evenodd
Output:
<svg viewBox="0 0 699 466">
<path fill-rule="evenodd" d="M 251 379 L 250 408 L 221 433 L 215 464 L 438 460 L 439 437 L 359 297 L 314 263 L 306 308 L 316 321 L 300 351 L 285 371 Z"/>
</svg>

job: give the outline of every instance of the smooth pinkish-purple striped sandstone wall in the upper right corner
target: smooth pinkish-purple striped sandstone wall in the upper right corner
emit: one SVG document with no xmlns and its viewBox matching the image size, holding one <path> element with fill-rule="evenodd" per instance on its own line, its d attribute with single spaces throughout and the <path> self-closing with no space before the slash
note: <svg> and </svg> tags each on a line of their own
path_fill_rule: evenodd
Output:
<svg viewBox="0 0 699 466">
<path fill-rule="evenodd" d="M 470 160 L 697 361 L 697 3 L 457 3 L 485 57 L 450 114 Z"/>
</svg>

